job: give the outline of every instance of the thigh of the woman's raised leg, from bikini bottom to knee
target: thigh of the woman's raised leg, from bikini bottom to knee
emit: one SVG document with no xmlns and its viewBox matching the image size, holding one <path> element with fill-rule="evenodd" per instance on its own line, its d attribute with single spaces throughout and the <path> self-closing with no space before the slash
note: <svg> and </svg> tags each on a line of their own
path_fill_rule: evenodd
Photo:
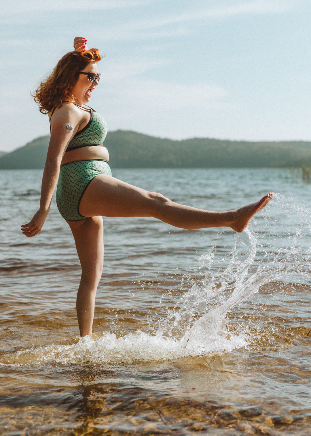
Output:
<svg viewBox="0 0 311 436">
<path fill-rule="evenodd" d="M 152 216 L 157 205 L 169 201 L 155 192 L 122 182 L 107 175 L 96 176 L 83 194 L 79 212 L 83 216 Z"/>
</svg>

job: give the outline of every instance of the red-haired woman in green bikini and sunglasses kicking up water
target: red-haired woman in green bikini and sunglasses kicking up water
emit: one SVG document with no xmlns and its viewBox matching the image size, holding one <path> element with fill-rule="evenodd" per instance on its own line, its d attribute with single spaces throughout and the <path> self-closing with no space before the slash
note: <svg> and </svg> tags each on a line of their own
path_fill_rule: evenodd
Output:
<svg viewBox="0 0 311 436">
<path fill-rule="evenodd" d="M 97 49 L 74 38 L 75 51 L 65 54 L 34 96 L 50 118 L 51 139 L 44 166 L 40 208 L 22 225 L 24 235 L 40 232 L 51 205 L 57 180 L 57 207 L 74 236 L 81 263 L 77 316 L 81 336 L 92 333 L 95 295 L 103 269 L 103 220 L 106 217 L 158 218 L 179 228 L 226 226 L 242 232 L 250 218 L 272 198 L 267 194 L 243 208 L 211 212 L 174 203 L 115 179 L 108 166 L 104 119 L 86 106 L 98 85 Z"/>
</svg>

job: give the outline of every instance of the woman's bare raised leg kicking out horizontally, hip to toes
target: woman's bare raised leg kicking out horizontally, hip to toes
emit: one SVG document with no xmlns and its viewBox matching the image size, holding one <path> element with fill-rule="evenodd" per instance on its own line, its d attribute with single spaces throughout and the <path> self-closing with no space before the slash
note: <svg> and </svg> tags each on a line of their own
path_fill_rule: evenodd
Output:
<svg viewBox="0 0 311 436">
<path fill-rule="evenodd" d="M 179 228 L 230 227 L 243 232 L 250 218 L 264 208 L 273 194 L 239 209 L 213 212 L 175 203 L 156 192 L 145 191 L 115 177 L 95 177 L 83 194 L 79 211 L 84 216 L 152 216 Z"/>
</svg>

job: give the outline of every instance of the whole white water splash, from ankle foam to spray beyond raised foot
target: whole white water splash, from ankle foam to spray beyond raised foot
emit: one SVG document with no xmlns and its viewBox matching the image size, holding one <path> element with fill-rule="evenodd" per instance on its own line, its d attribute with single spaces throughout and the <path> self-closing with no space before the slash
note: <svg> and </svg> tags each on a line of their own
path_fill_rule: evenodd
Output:
<svg viewBox="0 0 311 436">
<path fill-rule="evenodd" d="M 236 234 L 226 259 L 216 246 L 200 256 L 203 280 L 182 296 L 179 309 L 168 311 L 154 335 L 105 333 L 97 340 L 85 337 L 77 344 L 18 351 L 2 356 L 1 364 L 167 361 L 247 346 L 246 330 L 230 332 L 229 311 L 271 280 L 310 280 L 311 249 L 306 242 L 311 236 L 310 211 L 281 194 L 271 204 L 274 214 L 269 206 L 261 214 L 261 225 L 253 223 Z M 276 224 L 282 235 L 276 235 Z"/>
</svg>

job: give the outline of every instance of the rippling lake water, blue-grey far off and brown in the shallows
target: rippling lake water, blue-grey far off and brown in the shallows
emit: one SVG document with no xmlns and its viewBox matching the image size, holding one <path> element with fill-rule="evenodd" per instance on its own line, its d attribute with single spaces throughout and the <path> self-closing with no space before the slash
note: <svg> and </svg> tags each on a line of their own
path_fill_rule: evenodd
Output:
<svg viewBox="0 0 311 436">
<path fill-rule="evenodd" d="M 1 435 L 311 435 L 311 184 L 289 170 L 113 170 L 183 204 L 277 193 L 246 232 L 103 218 L 93 339 L 78 256 L 41 170 L 0 171 Z"/>
</svg>

